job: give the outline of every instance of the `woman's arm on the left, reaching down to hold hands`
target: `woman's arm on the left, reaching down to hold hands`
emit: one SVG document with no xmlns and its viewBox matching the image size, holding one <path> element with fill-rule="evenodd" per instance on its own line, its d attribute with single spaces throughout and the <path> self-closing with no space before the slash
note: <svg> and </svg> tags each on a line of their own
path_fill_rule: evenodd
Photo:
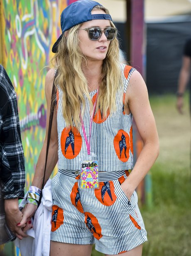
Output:
<svg viewBox="0 0 191 256">
<path fill-rule="evenodd" d="M 46 130 L 46 135 L 44 139 L 44 144 L 42 146 L 42 149 L 37 161 L 34 179 L 32 181 L 32 186 L 36 186 L 39 189 L 42 189 L 42 182 L 43 182 L 43 176 L 44 176 L 53 81 L 54 81 L 54 70 L 49 70 L 47 72 L 46 80 L 45 80 L 45 94 L 47 99 L 47 130 Z M 46 175 L 45 175 L 45 181 L 44 181 L 45 183 L 47 179 L 49 179 L 57 161 L 58 161 L 58 136 L 57 136 L 56 107 L 55 107 L 54 116 L 52 120 L 50 142 L 49 142 L 49 153 L 48 153 L 47 168 L 46 168 Z M 30 219 L 34 215 L 34 212 L 36 210 L 37 210 L 37 206 L 35 206 L 34 204 L 28 203 L 24 207 L 22 221 L 18 225 L 24 228 L 23 229 L 24 232 L 27 231 L 27 229 L 30 229 L 32 227 Z"/>
</svg>

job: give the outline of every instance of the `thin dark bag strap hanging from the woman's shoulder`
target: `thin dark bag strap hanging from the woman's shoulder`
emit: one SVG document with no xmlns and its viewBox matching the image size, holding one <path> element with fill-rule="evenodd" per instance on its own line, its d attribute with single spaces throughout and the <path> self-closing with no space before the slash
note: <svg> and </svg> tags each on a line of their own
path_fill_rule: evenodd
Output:
<svg viewBox="0 0 191 256">
<path fill-rule="evenodd" d="M 50 135 L 51 135 L 51 127 L 52 127 L 52 120 L 54 115 L 54 106 L 55 106 L 55 95 L 56 95 L 56 86 L 55 86 L 55 78 L 57 75 L 57 71 L 54 75 L 54 81 L 52 86 L 52 94 L 51 94 L 51 105 L 50 105 L 50 116 L 49 116 L 49 129 L 48 129 L 48 136 L 47 136 L 47 151 L 46 151 L 46 159 L 45 159 L 45 165 L 44 165 L 44 176 L 42 181 L 42 189 L 44 188 L 44 180 L 45 180 L 45 174 L 46 174 L 46 168 L 47 168 L 47 159 L 48 159 L 48 153 L 49 153 L 49 142 L 50 142 Z M 41 203 L 42 199 L 42 192 L 39 199 L 39 204 Z"/>
</svg>

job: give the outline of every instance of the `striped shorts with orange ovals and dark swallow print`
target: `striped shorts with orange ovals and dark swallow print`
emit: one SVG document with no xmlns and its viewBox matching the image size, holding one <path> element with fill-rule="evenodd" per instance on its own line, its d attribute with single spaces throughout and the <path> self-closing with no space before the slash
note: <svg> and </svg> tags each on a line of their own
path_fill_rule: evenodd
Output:
<svg viewBox="0 0 191 256">
<path fill-rule="evenodd" d="M 51 241 L 95 244 L 97 251 L 108 255 L 147 241 L 137 193 L 129 204 L 120 187 L 127 176 L 128 171 L 100 172 L 99 189 L 79 189 L 78 171 L 59 170 L 51 181 Z"/>
</svg>

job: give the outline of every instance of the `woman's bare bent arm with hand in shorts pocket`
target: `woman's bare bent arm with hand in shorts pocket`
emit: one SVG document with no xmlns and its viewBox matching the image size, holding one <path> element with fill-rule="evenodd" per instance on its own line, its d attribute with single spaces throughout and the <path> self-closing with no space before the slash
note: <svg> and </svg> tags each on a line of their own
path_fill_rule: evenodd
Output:
<svg viewBox="0 0 191 256">
<path fill-rule="evenodd" d="M 138 132 L 143 140 L 143 148 L 122 189 L 130 199 L 133 191 L 142 181 L 159 155 L 159 138 L 154 116 L 149 104 L 145 82 L 139 72 L 132 73 L 125 96 L 125 111 L 131 112 Z"/>
</svg>

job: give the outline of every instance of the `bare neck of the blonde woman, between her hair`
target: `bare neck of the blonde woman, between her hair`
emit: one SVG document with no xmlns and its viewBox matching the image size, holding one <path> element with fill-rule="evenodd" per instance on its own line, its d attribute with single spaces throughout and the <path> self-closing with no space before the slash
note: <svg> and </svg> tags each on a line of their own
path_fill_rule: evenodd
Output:
<svg viewBox="0 0 191 256">
<path fill-rule="evenodd" d="M 99 88 L 101 69 L 102 62 L 88 63 L 88 65 L 82 65 L 82 71 L 88 82 L 89 92 L 92 92 Z"/>
</svg>

